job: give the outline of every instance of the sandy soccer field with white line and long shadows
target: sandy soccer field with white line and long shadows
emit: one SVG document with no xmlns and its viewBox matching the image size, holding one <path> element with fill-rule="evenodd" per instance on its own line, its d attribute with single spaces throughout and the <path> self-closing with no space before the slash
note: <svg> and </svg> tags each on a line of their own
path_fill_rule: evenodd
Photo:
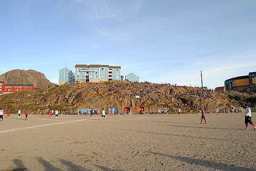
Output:
<svg viewBox="0 0 256 171">
<path fill-rule="evenodd" d="M 244 113 L 17 117 L 0 121 L 0 171 L 256 171 Z"/>
</svg>

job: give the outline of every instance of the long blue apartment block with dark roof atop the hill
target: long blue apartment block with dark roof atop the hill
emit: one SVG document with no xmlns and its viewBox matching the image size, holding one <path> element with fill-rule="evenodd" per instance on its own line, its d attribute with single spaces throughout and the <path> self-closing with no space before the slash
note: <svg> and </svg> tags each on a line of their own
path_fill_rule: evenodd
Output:
<svg viewBox="0 0 256 171">
<path fill-rule="evenodd" d="M 75 82 L 98 83 L 100 81 L 121 80 L 121 66 L 76 65 Z"/>
</svg>

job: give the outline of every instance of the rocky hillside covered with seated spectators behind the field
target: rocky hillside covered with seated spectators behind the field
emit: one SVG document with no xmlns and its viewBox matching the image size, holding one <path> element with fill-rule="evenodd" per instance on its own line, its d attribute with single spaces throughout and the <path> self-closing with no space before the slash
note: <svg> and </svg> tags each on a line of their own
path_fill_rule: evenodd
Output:
<svg viewBox="0 0 256 171">
<path fill-rule="evenodd" d="M 232 93 L 232 92 L 231 92 Z M 139 96 L 140 98 L 136 98 Z M 240 97 L 240 95 L 238 95 Z M 124 107 L 131 107 L 137 113 L 137 107 L 145 107 L 145 112 L 157 112 L 158 108 L 167 108 L 168 113 L 198 113 L 199 108 L 206 112 L 230 107 L 244 111 L 247 97 L 256 98 L 254 94 L 243 94 L 243 98 L 233 98 L 228 91 L 215 92 L 186 86 L 170 84 L 131 83 L 111 81 L 105 83 L 66 84 L 39 90 L 26 90 L 0 96 L 0 107 L 17 111 L 29 108 L 31 113 L 40 113 L 41 109 L 58 108 L 61 111 L 77 112 L 78 109 L 118 107 L 123 113 Z M 255 107 L 255 103 L 250 104 Z"/>
</svg>

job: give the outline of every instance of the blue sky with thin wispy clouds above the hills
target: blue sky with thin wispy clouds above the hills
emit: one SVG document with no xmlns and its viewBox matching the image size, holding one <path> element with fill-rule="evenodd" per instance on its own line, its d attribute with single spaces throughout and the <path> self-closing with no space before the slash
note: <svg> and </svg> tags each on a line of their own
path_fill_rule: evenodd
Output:
<svg viewBox="0 0 256 171">
<path fill-rule="evenodd" d="M 0 0 L 0 75 L 75 65 L 208 88 L 256 71 L 256 0 Z"/>
</svg>

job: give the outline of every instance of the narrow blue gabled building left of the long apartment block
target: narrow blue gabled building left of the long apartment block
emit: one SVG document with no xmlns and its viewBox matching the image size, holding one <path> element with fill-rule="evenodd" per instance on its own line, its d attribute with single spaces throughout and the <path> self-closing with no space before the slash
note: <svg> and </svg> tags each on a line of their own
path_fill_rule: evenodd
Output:
<svg viewBox="0 0 256 171">
<path fill-rule="evenodd" d="M 75 73 L 71 71 L 67 67 L 63 67 L 59 70 L 59 85 L 63 85 L 65 83 L 75 82 Z"/>
</svg>

